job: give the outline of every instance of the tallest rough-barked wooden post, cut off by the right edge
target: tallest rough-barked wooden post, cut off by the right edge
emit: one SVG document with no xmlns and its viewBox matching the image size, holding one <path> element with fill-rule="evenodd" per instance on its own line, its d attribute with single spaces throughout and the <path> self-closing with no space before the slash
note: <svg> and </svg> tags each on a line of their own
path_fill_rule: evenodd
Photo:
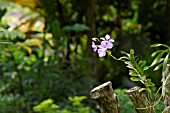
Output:
<svg viewBox="0 0 170 113">
<path fill-rule="evenodd" d="M 162 93 L 164 99 L 164 113 L 170 113 L 170 64 L 167 64 L 162 77 Z"/>
</svg>

